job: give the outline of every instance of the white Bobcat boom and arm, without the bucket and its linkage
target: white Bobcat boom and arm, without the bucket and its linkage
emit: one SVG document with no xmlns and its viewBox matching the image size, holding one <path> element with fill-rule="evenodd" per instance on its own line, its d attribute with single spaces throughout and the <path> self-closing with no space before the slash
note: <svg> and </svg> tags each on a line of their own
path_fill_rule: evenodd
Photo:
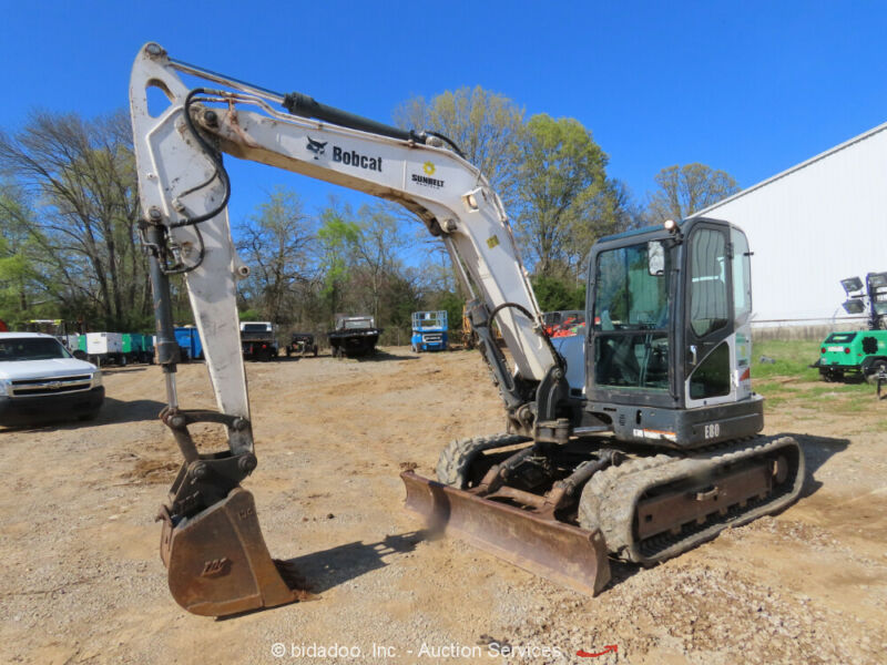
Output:
<svg viewBox="0 0 887 665">
<path fill-rule="evenodd" d="M 187 89 L 181 74 L 225 85 Z M 169 106 L 152 115 L 149 91 Z M 441 238 L 475 304 L 475 327 L 496 315 L 514 372 L 485 345 L 508 409 L 517 415 L 560 358 L 542 334 L 539 306 L 508 217 L 487 178 L 445 139 L 390 127 L 173 60 L 149 43 L 133 66 L 130 102 L 145 236 L 163 270 L 185 274 L 207 366 L 223 412 L 248 417 L 234 308 L 236 279 L 226 204 L 231 183 L 221 153 L 343 185 L 401 204 Z M 285 109 L 281 110 L 281 105 Z M 172 268 L 171 268 L 172 266 Z M 166 340 L 163 340 L 164 342 Z M 531 432 L 533 415 L 514 426 Z"/>
</svg>

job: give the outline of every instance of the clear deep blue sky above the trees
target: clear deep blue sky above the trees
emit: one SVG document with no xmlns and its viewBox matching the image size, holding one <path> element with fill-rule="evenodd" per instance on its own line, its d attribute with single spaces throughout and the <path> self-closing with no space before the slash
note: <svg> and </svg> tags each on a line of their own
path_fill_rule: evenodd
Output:
<svg viewBox="0 0 887 665">
<path fill-rule="evenodd" d="M 8 131 L 34 108 L 123 108 L 146 41 L 381 121 L 414 94 L 479 84 L 529 114 L 578 119 L 639 198 L 671 164 L 703 162 L 747 186 L 887 121 L 887 2 L 0 0 L 0 10 Z M 335 191 L 257 165 L 233 166 L 233 181 L 235 222 L 276 184 L 309 211 Z"/>
</svg>

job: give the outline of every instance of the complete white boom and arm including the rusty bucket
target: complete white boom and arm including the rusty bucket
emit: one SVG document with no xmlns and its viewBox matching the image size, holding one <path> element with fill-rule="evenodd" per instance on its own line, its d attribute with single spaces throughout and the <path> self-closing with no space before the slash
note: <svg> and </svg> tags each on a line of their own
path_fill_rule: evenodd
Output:
<svg viewBox="0 0 887 665">
<path fill-rule="evenodd" d="M 187 88 L 183 74 L 203 85 Z M 156 100 L 164 103 L 155 105 Z M 155 43 L 145 44 L 135 60 L 130 104 L 144 213 L 140 231 L 149 249 L 157 360 L 169 402 L 161 417 L 185 459 L 159 515 L 161 555 L 180 604 L 222 615 L 305 596 L 290 571 L 271 560 L 252 495 L 239 487 L 256 467 L 236 310 L 236 284 L 248 268 L 231 238 L 223 153 L 365 192 L 415 213 L 443 242 L 470 294 L 469 316 L 504 401 L 509 430 L 537 440 L 567 439 L 570 424 L 555 420 L 559 398 L 568 390 L 563 361 L 542 331 L 502 203 L 446 137 L 243 83 L 174 60 Z M 217 411 L 179 405 L 169 287 L 175 274 L 187 286 Z M 495 342 L 493 319 L 513 370 Z M 187 429 L 195 422 L 224 426 L 227 450 L 200 452 Z"/>
</svg>

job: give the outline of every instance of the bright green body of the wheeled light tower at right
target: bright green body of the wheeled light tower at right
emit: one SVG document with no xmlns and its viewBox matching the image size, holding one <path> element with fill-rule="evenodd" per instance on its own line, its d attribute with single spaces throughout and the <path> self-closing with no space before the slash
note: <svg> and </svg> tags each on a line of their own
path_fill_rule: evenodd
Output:
<svg viewBox="0 0 887 665">
<path fill-rule="evenodd" d="M 833 332 L 819 348 L 819 359 L 810 367 L 826 381 L 840 381 L 847 375 L 874 380 L 887 371 L 887 330 Z"/>
</svg>

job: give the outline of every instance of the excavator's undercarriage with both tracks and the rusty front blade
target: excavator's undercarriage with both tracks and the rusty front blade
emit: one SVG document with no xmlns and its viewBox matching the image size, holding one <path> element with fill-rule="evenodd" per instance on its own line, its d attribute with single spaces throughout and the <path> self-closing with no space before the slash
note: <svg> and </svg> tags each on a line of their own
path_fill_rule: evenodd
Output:
<svg viewBox="0 0 887 665">
<path fill-rule="evenodd" d="M 804 456 L 789 437 L 651 452 L 612 438 L 453 441 L 439 482 L 401 474 L 407 507 L 473 544 L 578 591 L 609 582 L 608 557 L 653 565 L 791 504 Z"/>
</svg>

